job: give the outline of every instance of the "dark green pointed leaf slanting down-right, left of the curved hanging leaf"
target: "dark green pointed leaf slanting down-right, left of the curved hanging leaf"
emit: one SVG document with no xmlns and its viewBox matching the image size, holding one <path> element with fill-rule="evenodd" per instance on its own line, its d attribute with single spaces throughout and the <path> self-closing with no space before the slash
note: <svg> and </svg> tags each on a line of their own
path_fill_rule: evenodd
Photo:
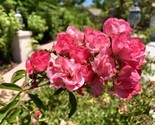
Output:
<svg viewBox="0 0 155 125">
<path fill-rule="evenodd" d="M 38 98 L 37 95 L 28 94 L 31 100 L 36 104 L 39 109 L 45 109 L 43 102 Z"/>
</svg>

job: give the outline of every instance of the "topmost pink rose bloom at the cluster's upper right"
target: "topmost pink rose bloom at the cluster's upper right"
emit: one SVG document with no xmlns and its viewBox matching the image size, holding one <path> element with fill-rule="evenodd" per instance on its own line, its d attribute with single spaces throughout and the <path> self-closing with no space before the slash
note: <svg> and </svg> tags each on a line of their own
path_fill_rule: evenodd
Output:
<svg viewBox="0 0 155 125">
<path fill-rule="evenodd" d="M 123 19 L 109 18 L 103 25 L 103 31 L 108 36 L 118 35 L 122 32 L 131 32 L 130 24 Z"/>
</svg>

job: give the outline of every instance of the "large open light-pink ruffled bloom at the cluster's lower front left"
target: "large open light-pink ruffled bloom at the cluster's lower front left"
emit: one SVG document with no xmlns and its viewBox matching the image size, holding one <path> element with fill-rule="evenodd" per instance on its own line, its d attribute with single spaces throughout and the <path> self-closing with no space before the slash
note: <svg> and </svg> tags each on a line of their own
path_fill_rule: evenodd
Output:
<svg viewBox="0 0 155 125">
<path fill-rule="evenodd" d="M 47 77 L 51 86 L 74 91 L 84 85 L 84 77 L 80 70 L 81 65 L 73 59 L 58 57 L 55 64 L 47 69 Z"/>
</svg>

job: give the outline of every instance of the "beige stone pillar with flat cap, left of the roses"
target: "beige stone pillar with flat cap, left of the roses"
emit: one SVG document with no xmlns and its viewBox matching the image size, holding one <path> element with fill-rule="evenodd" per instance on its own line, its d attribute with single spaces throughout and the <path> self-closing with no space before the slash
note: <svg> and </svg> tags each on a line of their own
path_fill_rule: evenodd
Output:
<svg viewBox="0 0 155 125">
<path fill-rule="evenodd" d="M 19 30 L 12 42 L 13 60 L 16 62 L 26 61 L 32 51 L 31 31 Z"/>
</svg>

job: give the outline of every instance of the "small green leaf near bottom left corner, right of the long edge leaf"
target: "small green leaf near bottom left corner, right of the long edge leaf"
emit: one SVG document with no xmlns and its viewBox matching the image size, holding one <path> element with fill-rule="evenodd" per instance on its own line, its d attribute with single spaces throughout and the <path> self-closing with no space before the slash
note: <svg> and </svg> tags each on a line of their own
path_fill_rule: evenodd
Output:
<svg viewBox="0 0 155 125">
<path fill-rule="evenodd" d="M 14 109 L 12 109 L 10 115 L 8 115 L 8 117 L 7 117 L 7 121 L 9 123 L 14 122 L 16 116 L 18 116 L 20 112 L 21 112 L 21 109 L 20 108 L 14 108 Z"/>
</svg>

